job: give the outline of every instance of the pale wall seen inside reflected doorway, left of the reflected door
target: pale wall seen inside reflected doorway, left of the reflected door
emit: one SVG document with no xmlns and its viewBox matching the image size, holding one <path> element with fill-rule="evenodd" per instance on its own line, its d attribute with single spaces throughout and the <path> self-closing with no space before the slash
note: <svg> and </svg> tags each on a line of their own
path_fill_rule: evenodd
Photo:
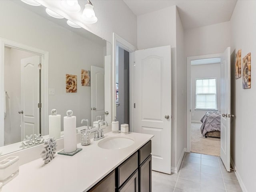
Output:
<svg viewBox="0 0 256 192">
<path fill-rule="evenodd" d="M 4 49 L 4 90 L 7 91 L 6 118 L 4 119 L 4 144 L 20 142 L 21 90 L 20 60 L 35 54 L 15 48 Z"/>
</svg>

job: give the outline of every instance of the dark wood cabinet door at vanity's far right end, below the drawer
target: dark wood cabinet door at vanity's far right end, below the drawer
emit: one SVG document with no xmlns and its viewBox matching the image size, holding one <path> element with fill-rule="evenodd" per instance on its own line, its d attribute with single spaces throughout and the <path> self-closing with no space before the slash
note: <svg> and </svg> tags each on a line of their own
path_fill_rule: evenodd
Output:
<svg viewBox="0 0 256 192">
<path fill-rule="evenodd" d="M 152 168 L 151 155 L 145 160 L 140 166 L 139 173 L 139 188 L 140 192 L 151 192 L 152 191 Z"/>
</svg>

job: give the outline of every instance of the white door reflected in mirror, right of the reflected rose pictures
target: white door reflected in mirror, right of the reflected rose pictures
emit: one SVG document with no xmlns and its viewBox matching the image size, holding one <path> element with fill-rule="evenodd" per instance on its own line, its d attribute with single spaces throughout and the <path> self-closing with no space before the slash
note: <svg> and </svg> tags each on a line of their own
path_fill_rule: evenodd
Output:
<svg viewBox="0 0 256 192">
<path fill-rule="evenodd" d="M 96 116 L 101 115 L 104 119 L 104 68 L 91 66 L 91 96 L 93 124 Z"/>
</svg>

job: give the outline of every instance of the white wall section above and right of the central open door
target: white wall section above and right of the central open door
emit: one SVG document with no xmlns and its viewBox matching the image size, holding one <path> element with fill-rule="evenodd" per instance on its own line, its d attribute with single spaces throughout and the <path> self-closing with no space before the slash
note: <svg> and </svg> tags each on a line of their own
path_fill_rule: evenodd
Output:
<svg viewBox="0 0 256 192">
<path fill-rule="evenodd" d="M 172 47 L 172 167 L 176 168 L 186 146 L 184 34 L 176 6 L 138 16 L 137 31 L 139 50 L 165 45 Z M 178 114 L 182 116 L 178 117 Z"/>
</svg>

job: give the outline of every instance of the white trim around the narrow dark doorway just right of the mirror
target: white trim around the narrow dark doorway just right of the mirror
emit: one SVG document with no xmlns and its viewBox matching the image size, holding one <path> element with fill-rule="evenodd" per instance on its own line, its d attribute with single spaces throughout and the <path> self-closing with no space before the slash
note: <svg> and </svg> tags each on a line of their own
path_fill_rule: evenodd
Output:
<svg viewBox="0 0 256 192">
<path fill-rule="evenodd" d="M 112 75 L 111 75 L 111 103 L 112 103 L 112 117 L 111 119 L 114 120 L 114 116 L 116 116 L 116 46 L 128 51 L 129 59 L 130 59 L 130 106 L 133 104 L 133 63 L 135 62 L 135 54 L 134 51 L 137 50 L 135 46 L 130 44 L 128 41 L 124 40 L 122 37 L 118 36 L 117 34 L 113 33 L 113 42 L 112 42 Z M 133 110 L 130 107 L 130 131 L 133 131 Z"/>
</svg>

